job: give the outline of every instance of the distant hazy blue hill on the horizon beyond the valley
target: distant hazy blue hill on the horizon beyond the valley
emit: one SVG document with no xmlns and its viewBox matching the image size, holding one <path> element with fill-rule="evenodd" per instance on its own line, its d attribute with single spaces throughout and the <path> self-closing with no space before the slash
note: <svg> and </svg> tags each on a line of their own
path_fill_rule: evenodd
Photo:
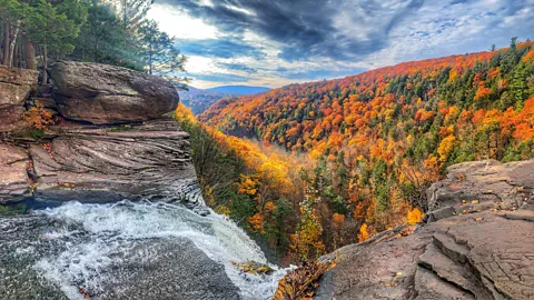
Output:
<svg viewBox="0 0 534 300">
<path fill-rule="evenodd" d="M 178 91 L 180 94 L 180 101 L 191 109 L 194 114 L 200 114 L 205 112 L 211 104 L 222 98 L 254 94 L 270 90 L 263 87 L 247 87 L 247 86 L 225 86 L 211 89 L 197 89 L 195 87 L 188 87 L 189 91 Z"/>
</svg>

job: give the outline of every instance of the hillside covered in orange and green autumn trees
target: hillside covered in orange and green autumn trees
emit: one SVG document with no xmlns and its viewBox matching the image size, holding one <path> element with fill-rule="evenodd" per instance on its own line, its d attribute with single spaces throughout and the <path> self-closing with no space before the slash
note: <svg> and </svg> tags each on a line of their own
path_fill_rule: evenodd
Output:
<svg viewBox="0 0 534 300">
<path fill-rule="evenodd" d="M 258 139 L 264 152 L 290 153 L 280 159 L 278 150 L 270 161 L 281 166 L 278 186 L 256 166 L 237 180 L 245 186 L 237 193 L 249 198 L 249 228 L 270 240 L 271 208 L 279 209 L 273 203 L 287 200 L 285 213 L 295 221 L 277 228 L 276 237 L 285 238 L 271 242 L 313 257 L 417 221 L 427 210 L 427 188 L 453 163 L 532 158 L 533 46 L 512 43 L 221 99 L 199 119 L 227 134 Z M 236 149 L 245 158 L 259 151 Z M 277 191 L 280 184 L 294 188 Z M 291 240 L 303 233 L 308 240 Z"/>
</svg>

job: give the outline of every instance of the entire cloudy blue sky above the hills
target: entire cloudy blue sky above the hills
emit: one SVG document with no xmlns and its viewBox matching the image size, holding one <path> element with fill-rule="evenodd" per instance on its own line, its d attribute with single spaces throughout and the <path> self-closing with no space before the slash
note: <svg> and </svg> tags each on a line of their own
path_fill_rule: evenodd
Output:
<svg viewBox="0 0 534 300">
<path fill-rule="evenodd" d="M 534 0 L 157 0 L 196 88 L 278 88 L 534 39 Z"/>
</svg>

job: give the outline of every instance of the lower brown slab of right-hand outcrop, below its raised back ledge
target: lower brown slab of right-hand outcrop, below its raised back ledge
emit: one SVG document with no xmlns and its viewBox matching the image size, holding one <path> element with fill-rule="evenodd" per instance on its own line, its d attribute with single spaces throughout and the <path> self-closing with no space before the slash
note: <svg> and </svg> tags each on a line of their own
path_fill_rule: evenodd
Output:
<svg viewBox="0 0 534 300">
<path fill-rule="evenodd" d="M 334 257 L 339 262 L 323 277 L 316 299 L 534 298 L 534 222 L 491 212 L 345 247 Z"/>
</svg>

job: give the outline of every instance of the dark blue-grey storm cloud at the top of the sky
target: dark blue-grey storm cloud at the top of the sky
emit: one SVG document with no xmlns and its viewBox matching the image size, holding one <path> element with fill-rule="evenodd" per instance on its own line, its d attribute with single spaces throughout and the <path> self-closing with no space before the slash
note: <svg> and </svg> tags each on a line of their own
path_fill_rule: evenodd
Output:
<svg viewBox="0 0 534 300">
<path fill-rule="evenodd" d="M 225 32 L 243 33 L 249 29 L 277 41 L 281 44 L 279 57 L 294 61 L 313 57 L 354 60 L 382 50 L 388 46 L 389 31 L 417 11 L 424 0 L 400 6 L 378 0 L 212 0 L 212 6 L 196 0 L 164 2 L 179 6 Z M 348 14 L 345 29 L 337 19 L 339 13 Z M 370 20 L 370 26 L 360 29 L 358 20 Z M 352 32 L 352 27 L 365 32 Z"/>
</svg>

